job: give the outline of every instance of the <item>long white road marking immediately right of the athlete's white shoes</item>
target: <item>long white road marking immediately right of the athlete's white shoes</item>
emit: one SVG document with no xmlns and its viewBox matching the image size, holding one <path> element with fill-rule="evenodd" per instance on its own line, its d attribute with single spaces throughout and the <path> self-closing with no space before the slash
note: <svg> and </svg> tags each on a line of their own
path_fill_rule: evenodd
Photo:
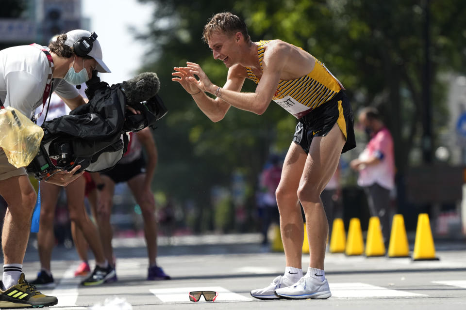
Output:
<svg viewBox="0 0 466 310">
<path fill-rule="evenodd" d="M 387 289 L 381 286 L 366 283 L 329 283 L 333 297 L 410 297 L 427 296 L 424 294 L 410 293 Z"/>
</svg>

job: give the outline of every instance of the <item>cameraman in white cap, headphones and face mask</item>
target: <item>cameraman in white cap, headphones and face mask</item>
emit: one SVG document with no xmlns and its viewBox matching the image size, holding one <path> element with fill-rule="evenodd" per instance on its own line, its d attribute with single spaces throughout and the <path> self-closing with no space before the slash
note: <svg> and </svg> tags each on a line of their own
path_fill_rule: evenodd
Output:
<svg viewBox="0 0 466 310">
<path fill-rule="evenodd" d="M 30 45 L 1 50 L 0 101 L 5 107 L 15 108 L 28 117 L 41 105 L 42 112 L 46 112 L 51 92 L 57 93 L 70 109 L 83 105 L 83 97 L 72 85 L 87 81 L 94 69 L 110 72 L 102 61 L 102 50 L 96 37 L 89 31 L 74 30 L 59 35 L 49 48 Z M 48 182 L 66 186 L 82 175 L 75 174 L 80 168 L 76 166 L 71 171 L 59 171 Z M 12 303 L 35 307 L 55 305 L 58 302 L 56 297 L 40 294 L 24 280 L 22 262 L 36 194 L 26 170 L 11 165 L 1 149 L 0 195 L 8 203 L 2 231 L 4 265 L 0 308 L 11 307 Z M 17 294 L 10 294 L 17 286 L 19 289 L 24 285 L 28 285 L 31 294 L 17 297 L 13 297 Z"/>
</svg>

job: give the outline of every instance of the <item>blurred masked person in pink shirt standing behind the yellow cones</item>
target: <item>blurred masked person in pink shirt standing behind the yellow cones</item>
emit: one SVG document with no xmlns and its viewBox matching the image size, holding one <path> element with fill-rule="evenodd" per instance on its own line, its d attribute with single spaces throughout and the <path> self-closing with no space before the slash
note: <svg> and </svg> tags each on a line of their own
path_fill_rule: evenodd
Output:
<svg viewBox="0 0 466 310">
<path fill-rule="evenodd" d="M 364 126 L 369 142 L 350 166 L 359 171 L 358 185 L 366 192 L 370 215 L 380 219 L 387 244 L 390 238 L 390 191 L 395 187 L 393 139 L 375 108 L 363 109 L 359 113 L 359 123 Z"/>
</svg>

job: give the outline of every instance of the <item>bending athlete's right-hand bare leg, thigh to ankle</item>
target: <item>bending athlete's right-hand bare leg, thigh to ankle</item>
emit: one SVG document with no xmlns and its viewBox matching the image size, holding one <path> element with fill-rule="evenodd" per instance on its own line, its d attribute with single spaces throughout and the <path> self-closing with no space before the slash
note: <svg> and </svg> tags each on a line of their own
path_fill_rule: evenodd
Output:
<svg viewBox="0 0 466 310">
<path fill-rule="evenodd" d="M 309 266 L 312 268 L 324 269 L 329 224 L 320 193 L 335 173 L 344 145 L 345 136 L 338 124 L 333 125 L 327 136 L 314 137 L 300 180 L 298 198 L 306 216 Z"/>
</svg>

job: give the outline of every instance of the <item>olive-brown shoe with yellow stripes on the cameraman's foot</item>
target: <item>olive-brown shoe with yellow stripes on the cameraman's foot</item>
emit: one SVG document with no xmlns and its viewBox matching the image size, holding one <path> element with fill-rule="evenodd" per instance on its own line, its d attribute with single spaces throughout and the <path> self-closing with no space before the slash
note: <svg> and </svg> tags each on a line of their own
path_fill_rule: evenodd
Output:
<svg viewBox="0 0 466 310">
<path fill-rule="evenodd" d="M 3 283 L 0 282 L 1 288 Z M 5 308 L 42 308 L 50 307 L 58 303 L 55 296 L 46 296 L 37 291 L 34 285 L 24 279 L 24 273 L 21 274 L 18 284 L 2 290 L 0 288 L 0 309 Z"/>
</svg>

